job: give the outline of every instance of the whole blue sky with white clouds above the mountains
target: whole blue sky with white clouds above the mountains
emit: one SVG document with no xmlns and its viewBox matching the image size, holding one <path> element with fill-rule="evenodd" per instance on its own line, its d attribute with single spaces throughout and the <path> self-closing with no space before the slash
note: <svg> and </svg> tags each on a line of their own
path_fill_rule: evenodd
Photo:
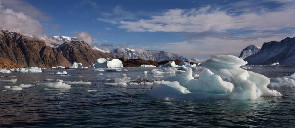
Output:
<svg viewBox="0 0 295 128">
<path fill-rule="evenodd" d="M 295 1 L 0 0 L 0 28 L 206 60 L 295 37 Z"/>
</svg>

